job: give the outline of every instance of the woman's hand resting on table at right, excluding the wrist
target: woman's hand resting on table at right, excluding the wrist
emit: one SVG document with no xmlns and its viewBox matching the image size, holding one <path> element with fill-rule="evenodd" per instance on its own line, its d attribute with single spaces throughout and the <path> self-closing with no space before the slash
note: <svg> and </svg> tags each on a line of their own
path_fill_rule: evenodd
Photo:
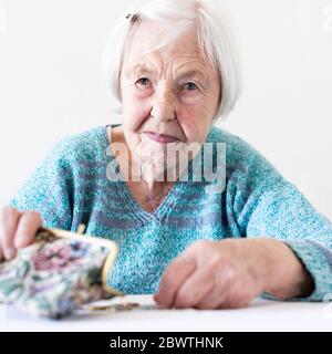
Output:
<svg viewBox="0 0 332 354">
<path fill-rule="evenodd" d="M 155 301 L 177 309 L 246 306 L 264 284 L 261 248 L 252 241 L 257 240 L 194 242 L 166 269 Z"/>
</svg>

